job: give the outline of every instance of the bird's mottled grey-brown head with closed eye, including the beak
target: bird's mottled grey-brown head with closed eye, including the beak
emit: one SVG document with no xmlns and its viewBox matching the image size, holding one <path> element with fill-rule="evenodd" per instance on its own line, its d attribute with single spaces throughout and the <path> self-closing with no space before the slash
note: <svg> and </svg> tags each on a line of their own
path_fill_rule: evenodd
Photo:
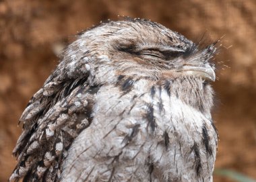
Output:
<svg viewBox="0 0 256 182">
<path fill-rule="evenodd" d="M 214 44 L 199 48 L 177 32 L 145 19 L 108 21 L 78 35 L 64 54 L 69 70 L 90 71 L 98 83 L 117 75 L 152 80 L 197 77 L 214 81 Z M 64 63 L 63 63 L 64 64 Z M 95 75 L 98 75 L 95 77 Z"/>
</svg>

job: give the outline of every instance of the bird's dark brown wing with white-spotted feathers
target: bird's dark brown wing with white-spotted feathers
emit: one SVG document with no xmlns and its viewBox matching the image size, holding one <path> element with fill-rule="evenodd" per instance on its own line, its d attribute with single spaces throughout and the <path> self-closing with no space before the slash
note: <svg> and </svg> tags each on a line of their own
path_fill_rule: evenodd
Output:
<svg viewBox="0 0 256 182">
<path fill-rule="evenodd" d="M 84 62 L 83 62 L 84 64 Z M 22 135 L 13 149 L 18 157 L 10 181 L 55 181 L 74 138 L 90 125 L 94 95 L 82 62 L 63 61 L 30 99 L 20 118 Z"/>
</svg>

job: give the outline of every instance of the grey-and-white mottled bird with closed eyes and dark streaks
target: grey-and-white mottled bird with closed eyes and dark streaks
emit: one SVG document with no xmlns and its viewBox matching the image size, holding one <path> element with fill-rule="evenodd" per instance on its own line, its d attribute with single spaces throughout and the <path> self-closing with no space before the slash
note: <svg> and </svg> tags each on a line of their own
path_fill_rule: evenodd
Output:
<svg viewBox="0 0 256 182">
<path fill-rule="evenodd" d="M 148 19 L 77 34 L 22 113 L 9 181 L 213 181 L 217 50 Z"/>
</svg>

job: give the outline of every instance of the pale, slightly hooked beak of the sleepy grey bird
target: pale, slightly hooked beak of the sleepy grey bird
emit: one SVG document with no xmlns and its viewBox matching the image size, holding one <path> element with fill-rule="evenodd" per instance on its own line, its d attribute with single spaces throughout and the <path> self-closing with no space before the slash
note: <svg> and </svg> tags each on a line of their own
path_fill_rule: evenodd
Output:
<svg viewBox="0 0 256 182">
<path fill-rule="evenodd" d="M 186 66 L 183 66 L 183 68 L 180 69 L 179 72 L 183 72 L 185 73 L 185 75 L 193 75 L 193 76 L 201 77 L 206 81 L 215 81 L 216 79 L 214 69 L 212 68 L 212 66 L 207 64 L 204 66 L 186 65 Z"/>
</svg>

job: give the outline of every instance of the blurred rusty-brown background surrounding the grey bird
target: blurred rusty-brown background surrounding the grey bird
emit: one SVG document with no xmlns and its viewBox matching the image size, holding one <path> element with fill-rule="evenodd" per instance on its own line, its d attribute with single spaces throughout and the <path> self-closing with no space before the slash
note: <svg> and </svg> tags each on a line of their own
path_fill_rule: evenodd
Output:
<svg viewBox="0 0 256 182">
<path fill-rule="evenodd" d="M 0 181 L 6 181 L 26 103 L 58 64 L 57 53 L 77 31 L 117 19 L 143 17 L 191 40 L 222 36 L 214 83 L 220 134 L 216 168 L 256 179 L 256 1 L 0 0 Z M 232 46 L 230 48 L 230 46 Z M 230 68 L 228 68 L 230 67 Z M 231 181 L 214 176 L 215 181 Z"/>
</svg>

